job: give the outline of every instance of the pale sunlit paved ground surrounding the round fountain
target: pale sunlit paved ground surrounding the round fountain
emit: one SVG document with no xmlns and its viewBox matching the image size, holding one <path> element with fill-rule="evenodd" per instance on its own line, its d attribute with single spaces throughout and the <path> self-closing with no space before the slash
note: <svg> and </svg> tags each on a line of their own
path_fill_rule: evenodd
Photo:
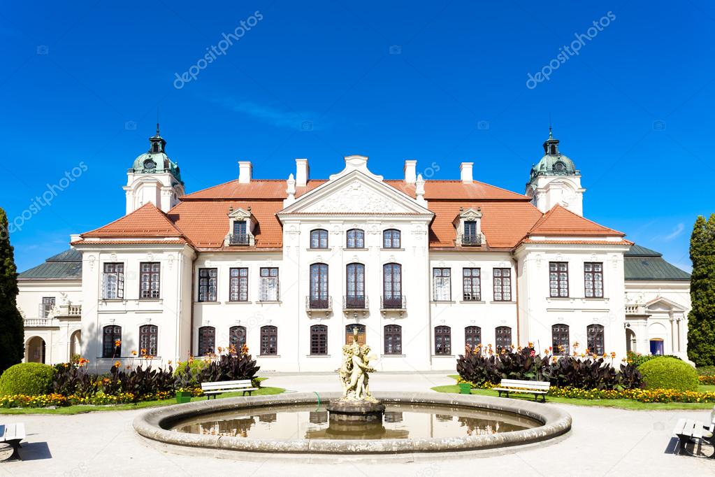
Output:
<svg viewBox="0 0 715 477">
<path fill-rule="evenodd" d="M 373 390 L 427 391 L 453 380 L 432 373 L 378 373 Z M 268 381 L 290 390 L 338 390 L 333 375 L 274 375 Z M 0 422 L 24 422 L 26 461 L 0 463 L 0 476 L 707 476 L 715 461 L 667 452 L 678 417 L 704 420 L 708 412 L 631 411 L 560 405 L 573 416 L 573 430 L 551 446 L 508 451 L 501 456 L 433 459 L 414 463 L 300 464 L 285 461 L 237 462 L 177 456 L 147 446 L 132 429 L 141 410 L 80 415 L 0 415 Z"/>
</svg>

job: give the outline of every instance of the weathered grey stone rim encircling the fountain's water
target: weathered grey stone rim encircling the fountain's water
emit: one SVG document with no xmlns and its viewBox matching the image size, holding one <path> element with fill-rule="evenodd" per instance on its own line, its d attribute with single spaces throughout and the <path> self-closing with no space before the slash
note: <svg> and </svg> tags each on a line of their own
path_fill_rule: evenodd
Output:
<svg viewBox="0 0 715 477">
<path fill-rule="evenodd" d="M 524 446 L 561 436 L 571 430 L 571 415 L 548 404 L 490 396 L 451 393 L 373 393 L 384 403 L 448 405 L 501 411 L 536 419 L 541 426 L 523 431 L 511 431 L 485 436 L 450 438 L 337 440 L 240 438 L 203 436 L 171 431 L 169 427 L 187 418 L 227 410 L 266 408 L 277 405 L 317 404 L 340 397 L 340 393 L 292 393 L 245 398 L 224 398 L 154 408 L 134 418 L 134 431 L 140 436 L 172 446 L 206 448 L 217 451 L 279 454 L 398 454 L 477 451 L 483 449 Z"/>
</svg>

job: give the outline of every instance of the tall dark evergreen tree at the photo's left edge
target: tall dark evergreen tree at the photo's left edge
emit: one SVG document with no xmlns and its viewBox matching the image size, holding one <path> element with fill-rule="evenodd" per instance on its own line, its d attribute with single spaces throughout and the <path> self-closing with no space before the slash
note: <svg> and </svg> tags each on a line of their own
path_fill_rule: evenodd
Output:
<svg viewBox="0 0 715 477">
<path fill-rule="evenodd" d="M 17 268 L 7 215 L 0 208 L 0 374 L 21 362 L 24 355 L 23 321 L 16 300 Z"/>
</svg>

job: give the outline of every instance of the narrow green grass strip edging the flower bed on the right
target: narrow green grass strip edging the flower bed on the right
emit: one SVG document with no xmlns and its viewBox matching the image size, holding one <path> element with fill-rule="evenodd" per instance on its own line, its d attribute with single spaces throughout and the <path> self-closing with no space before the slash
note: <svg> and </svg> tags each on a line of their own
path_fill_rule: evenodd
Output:
<svg viewBox="0 0 715 477">
<path fill-rule="evenodd" d="M 458 375 L 450 375 L 450 378 L 457 380 Z M 459 393 L 459 386 L 456 384 L 435 386 L 432 390 L 438 393 Z M 701 392 L 715 390 L 715 385 L 700 386 Z M 494 396 L 499 393 L 490 389 L 473 389 L 472 394 Z M 511 399 L 533 400 L 533 395 L 511 395 Z M 505 398 L 506 399 L 506 398 Z M 712 403 L 641 403 L 631 399 L 573 399 L 573 398 L 554 398 L 546 397 L 547 403 L 571 404 L 571 405 L 594 405 L 603 408 L 619 408 L 629 410 L 668 410 L 668 409 L 712 409 Z"/>
</svg>

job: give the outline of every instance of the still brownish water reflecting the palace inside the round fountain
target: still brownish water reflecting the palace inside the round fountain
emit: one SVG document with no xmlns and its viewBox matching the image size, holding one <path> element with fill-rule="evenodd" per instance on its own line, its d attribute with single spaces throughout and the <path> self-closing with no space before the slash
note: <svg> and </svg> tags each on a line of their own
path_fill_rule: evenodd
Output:
<svg viewBox="0 0 715 477">
<path fill-rule="evenodd" d="M 383 423 L 328 423 L 327 411 L 295 405 L 213 413 L 183 421 L 174 431 L 208 436 L 292 439 L 406 439 L 483 436 L 541 426 L 512 413 L 449 406 L 387 404 Z"/>
</svg>

